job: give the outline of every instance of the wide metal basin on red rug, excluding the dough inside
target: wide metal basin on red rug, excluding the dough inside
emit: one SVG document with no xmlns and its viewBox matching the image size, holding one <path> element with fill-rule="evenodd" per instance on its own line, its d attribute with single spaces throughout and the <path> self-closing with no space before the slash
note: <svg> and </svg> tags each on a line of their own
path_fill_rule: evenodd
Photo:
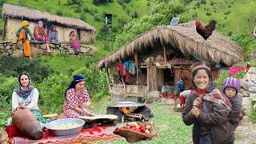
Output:
<svg viewBox="0 0 256 144">
<path fill-rule="evenodd" d="M 66 129 L 66 130 L 54 130 L 54 126 L 58 126 L 66 123 L 77 123 L 78 126 L 71 129 Z M 58 120 L 46 123 L 46 129 L 48 129 L 50 134 L 54 134 L 54 135 L 76 134 L 82 130 L 82 126 L 84 124 L 85 122 L 79 118 L 62 118 L 62 119 L 58 119 Z"/>
</svg>

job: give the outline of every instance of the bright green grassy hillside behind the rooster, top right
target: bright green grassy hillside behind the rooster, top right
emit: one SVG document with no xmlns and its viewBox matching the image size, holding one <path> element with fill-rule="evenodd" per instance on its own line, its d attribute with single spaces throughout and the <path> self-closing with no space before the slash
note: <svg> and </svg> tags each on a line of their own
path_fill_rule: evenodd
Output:
<svg viewBox="0 0 256 144">
<path fill-rule="evenodd" d="M 256 22 L 254 0 L 194 0 L 190 2 L 189 14 L 202 22 L 216 19 L 216 29 L 228 34 L 252 34 Z"/>
</svg>

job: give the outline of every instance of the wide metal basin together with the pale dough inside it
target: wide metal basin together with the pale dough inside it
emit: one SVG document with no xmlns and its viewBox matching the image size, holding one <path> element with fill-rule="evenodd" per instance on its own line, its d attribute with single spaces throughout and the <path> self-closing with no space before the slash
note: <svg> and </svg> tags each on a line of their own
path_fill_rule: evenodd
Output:
<svg viewBox="0 0 256 144">
<path fill-rule="evenodd" d="M 77 134 L 84 124 L 85 122 L 79 118 L 62 118 L 46 123 L 46 129 L 54 135 Z"/>
</svg>

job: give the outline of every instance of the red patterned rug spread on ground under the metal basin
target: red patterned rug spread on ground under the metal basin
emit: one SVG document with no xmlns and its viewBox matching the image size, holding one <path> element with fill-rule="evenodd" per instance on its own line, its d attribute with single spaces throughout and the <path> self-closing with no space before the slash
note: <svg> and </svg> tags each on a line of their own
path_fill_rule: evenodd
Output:
<svg viewBox="0 0 256 144">
<path fill-rule="evenodd" d="M 114 126 L 94 126 L 90 129 L 82 129 L 78 134 L 70 134 L 65 136 L 54 136 L 49 134 L 48 130 L 43 130 L 43 137 L 40 140 L 31 140 L 25 137 L 12 138 L 12 144 L 22 143 L 40 143 L 40 144 L 64 144 L 64 143 L 82 143 L 82 142 L 96 142 L 106 141 L 122 138 L 117 134 L 113 134 Z"/>
</svg>

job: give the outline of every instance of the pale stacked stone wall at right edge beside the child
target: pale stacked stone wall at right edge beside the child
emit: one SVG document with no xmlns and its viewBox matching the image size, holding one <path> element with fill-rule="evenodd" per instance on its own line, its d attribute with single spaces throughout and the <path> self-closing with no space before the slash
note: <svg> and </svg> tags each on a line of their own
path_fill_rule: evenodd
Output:
<svg viewBox="0 0 256 144">
<path fill-rule="evenodd" d="M 240 82 L 243 109 L 256 109 L 256 67 L 250 67 Z"/>
</svg>

